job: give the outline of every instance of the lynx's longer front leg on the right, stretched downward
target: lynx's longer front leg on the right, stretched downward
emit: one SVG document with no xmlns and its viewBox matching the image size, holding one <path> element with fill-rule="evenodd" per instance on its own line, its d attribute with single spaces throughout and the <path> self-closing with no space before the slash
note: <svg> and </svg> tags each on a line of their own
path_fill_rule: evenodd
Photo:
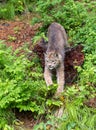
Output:
<svg viewBox="0 0 96 130">
<path fill-rule="evenodd" d="M 64 75 L 64 65 L 63 65 L 63 63 L 57 69 L 57 83 L 58 83 L 58 88 L 57 88 L 57 92 L 55 94 L 56 96 L 60 95 L 60 93 L 63 92 L 63 89 L 64 89 L 65 75 Z"/>
</svg>

